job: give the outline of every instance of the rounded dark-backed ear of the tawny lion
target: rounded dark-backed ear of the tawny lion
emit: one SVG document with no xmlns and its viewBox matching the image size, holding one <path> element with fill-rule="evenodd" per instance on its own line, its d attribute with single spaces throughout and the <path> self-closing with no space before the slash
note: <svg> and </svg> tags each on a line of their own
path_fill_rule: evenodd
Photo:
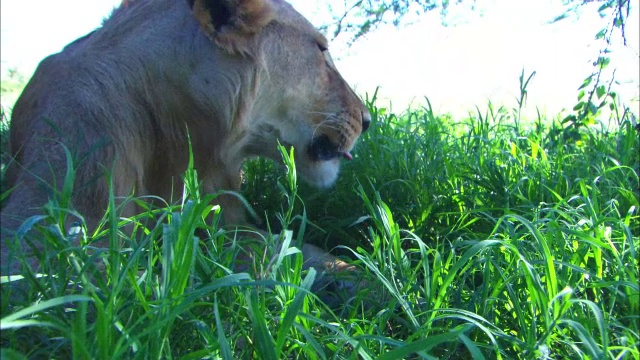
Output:
<svg viewBox="0 0 640 360">
<path fill-rule="evenodd" d="M 250 53 L 251 38 L 273 19 L 269 0 L 187 0 L 202 30 L 232 52 Z"/>
</svg>

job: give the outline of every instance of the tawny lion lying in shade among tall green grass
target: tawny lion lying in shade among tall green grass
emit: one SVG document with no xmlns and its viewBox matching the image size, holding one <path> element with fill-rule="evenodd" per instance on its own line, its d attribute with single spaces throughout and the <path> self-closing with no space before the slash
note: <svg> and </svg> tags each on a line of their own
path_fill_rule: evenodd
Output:
<svg viewBox="0 0 640 360">
<path fill-rule="evenodd" d="M 13 108 L 3 272 L 18 268 L 5 264 L 24 241 L 20 224 L 68 191 L 70 156 L 69 205 L 91 229 L 111 193 L 179 196 L 190 151 L 206 193 L 239 191 L 243 162 L 281 160 L 279 143 L 295 148 L 303 179 L 330 187 L 370 122 L 327 39 L 282 0 L 123 1 L 45 58 Z M 249 223 L 235 197 L 218 199 L 226 224 Z M 128 203 L 123 215 L 139 210 Z M 302 252 L 307 267 L 347 267 L 311 245 Z"/>
</svg>

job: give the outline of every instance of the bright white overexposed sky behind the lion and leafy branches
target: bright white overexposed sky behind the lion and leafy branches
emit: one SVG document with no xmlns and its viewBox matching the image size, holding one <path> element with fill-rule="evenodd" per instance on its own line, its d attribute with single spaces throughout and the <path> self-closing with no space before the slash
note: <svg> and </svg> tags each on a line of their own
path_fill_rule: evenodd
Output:
<svg viewBox="0 0 640 360">
<path fill-rule="evenodd" d="M 2 74 L 30 74 L 46 55 L 99 26 L 119 0 L 2 0 Z M 290 1 L 315 24 L 326 19 L 326 0 Z M 333 1 L 341 4 L 342 1 Z M 516 106 L 518 77 L 536 71 L 529 87 L 529 114 L 536 107 L 557 115 L 576 103 L 577 88 L 598 55 L 596 32 L 604 26 L 594 8 L 581 16 L 546 24 L 562 13 L 561 0 L 478 0 L 476 11 L 459 10 L 442 26 L 437 11 L 413 25 L 382 28 L 347 48 L 331 49 L 338 68 L 359 93 L 380 86 L 383 103 L 402 111 L 428 97 L 437 113 L 454 116 L 486 108 L 487 100 Z M 632 1 L 632 4 L 636 4 Z M 637 5 L 636 5 L 637 6 Z M 606 19 L 605 19 L 606 20 Z M 627 25 L 628 47 L 616 47 L 612 66 L 617 91 L 638 112 L 638 9 Z M 634 100 L 632 100 L 634 99 Z M 5 104 L 6 105 L 6 104 Z"/>
</svg>

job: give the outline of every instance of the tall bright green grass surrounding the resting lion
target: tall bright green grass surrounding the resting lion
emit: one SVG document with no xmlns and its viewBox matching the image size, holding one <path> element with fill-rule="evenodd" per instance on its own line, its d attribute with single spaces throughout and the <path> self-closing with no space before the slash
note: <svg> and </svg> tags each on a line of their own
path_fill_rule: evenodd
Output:
<svg viewBox="0 0 640 360">
<path fill-rule="evenodd" d="M 451 119 L 367 102 L 335 188 L 247 164 L 265 241 L 221 229 L 193 171 L 180 204 L 130 219 L 112 204 L 77 246 L 57 225 L 72 213 L 45 206 L 40 274 L 2 285 L 2 358 L 640 359 L 631 113 L 576 136 L 491 104 Z M 360 268 L 354 296 L 311 292 L 303 239 Z M 251 270 L 234 273 L 243 247 Z"/>
</svg>

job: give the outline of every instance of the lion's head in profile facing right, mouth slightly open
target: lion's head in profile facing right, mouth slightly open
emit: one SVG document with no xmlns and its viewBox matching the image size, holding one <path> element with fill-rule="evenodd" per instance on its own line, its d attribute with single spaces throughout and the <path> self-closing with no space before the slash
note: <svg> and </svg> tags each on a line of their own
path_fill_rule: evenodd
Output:
<svg viewBox="0 0 640 360">
<path fill-rule="evenodd" d="M 275 145 L 280 141 L 295 147 L 303 178 L 319 187 L 333 184 L 340 159 L 351 158 L 370 116 L 336 69 L 327 39 L 284 1 L 192 3 L 202 29 L 216 45 L 257 65 L 255 99 L 247 124 L 239 122 L 245 136 L 234 144 L 234 151 L 241 146 L 239 153 L 279 159 Z"/>
</svg>

